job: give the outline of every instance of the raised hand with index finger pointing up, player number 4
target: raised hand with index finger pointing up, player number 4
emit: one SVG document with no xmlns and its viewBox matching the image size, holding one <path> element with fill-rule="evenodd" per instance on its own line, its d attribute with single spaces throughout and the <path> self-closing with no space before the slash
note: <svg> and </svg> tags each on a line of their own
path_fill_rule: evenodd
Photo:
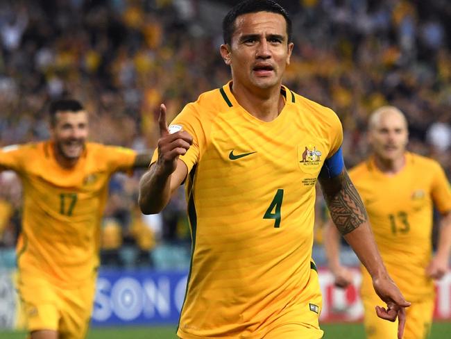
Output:
<svg viewBox="0 0 451 339">
<path fill-rule="evenodd" d="M 170 134 L 166 122 L 166 106 L 161 104 L 158 116 L 160 139 L 158 139 L 158 160 L 160 170 L 167 175 L 172 174 L 177 167 L 177 159 L 187 153 L 193 144 L 193 138 L 187 131 L 178 131 Z"/>
</svg>

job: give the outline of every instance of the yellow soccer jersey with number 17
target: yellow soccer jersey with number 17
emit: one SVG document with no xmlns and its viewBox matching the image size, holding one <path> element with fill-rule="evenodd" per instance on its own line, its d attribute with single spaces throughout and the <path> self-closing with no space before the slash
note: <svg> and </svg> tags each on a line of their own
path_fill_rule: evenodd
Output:
<svg viewBox="0 0 451 339">
<path fill-rule="evenodd" d="M 132 167 L 135 151 L 87 143 L 73 169 L 64 169 L 50 142 L 0 150 L 0 167 L 22 180 L 19 271 L 59 283 L 92 278 L 99 265 L 100 222 L 113 172 Z"/>
</svg>

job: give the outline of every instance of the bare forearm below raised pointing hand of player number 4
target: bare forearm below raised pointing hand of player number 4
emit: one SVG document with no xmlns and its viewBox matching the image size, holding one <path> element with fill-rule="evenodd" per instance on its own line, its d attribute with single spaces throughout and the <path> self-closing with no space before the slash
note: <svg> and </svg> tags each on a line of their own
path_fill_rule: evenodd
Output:
<svg viewBox="0 0 451 339">
<path fill-rule="evenodd" d="M 139 181 L 138 204 L 144 214 L 159 213 L 171 199 L 171 175 L 158 173 L 153 165 Z"/>
</svg>

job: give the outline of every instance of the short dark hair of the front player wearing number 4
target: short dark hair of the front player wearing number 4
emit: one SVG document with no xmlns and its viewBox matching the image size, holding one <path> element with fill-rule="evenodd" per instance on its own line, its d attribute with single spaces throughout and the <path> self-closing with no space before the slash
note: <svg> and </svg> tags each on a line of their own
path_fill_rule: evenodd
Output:
<svg viewBox="0 0 451 339">
<path fill-rule="evenodd" d="M 287 11 L 273 0 L 246 0 L 234 6 L 222 22 L 222 33 L 225 44 L 230 44 L 235 32 L 235 20 L 240 15 L 257 12 L 271 12 L 282 15 L 287 22 L 288 42 L 291 42 L 291 19 Z"/>
</svg>

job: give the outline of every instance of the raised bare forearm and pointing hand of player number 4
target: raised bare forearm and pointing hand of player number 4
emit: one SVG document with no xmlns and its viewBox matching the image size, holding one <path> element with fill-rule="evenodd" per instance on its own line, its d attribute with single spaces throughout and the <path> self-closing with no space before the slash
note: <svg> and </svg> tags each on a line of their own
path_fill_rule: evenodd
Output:
<svg viewBox="0 0 451 339">
<path fill-rule="evenodd" d="M 158 124 L 158 160 L 139 181 L 138 204 L 144 214 L 159 213 L 171 199 L 173 191 L 185 180 L 188 169 L 178 157 L 186 154 L 193 142 L 186 131 L 169 133 L 164 105 L 160 106 Z"/>
</svg>

